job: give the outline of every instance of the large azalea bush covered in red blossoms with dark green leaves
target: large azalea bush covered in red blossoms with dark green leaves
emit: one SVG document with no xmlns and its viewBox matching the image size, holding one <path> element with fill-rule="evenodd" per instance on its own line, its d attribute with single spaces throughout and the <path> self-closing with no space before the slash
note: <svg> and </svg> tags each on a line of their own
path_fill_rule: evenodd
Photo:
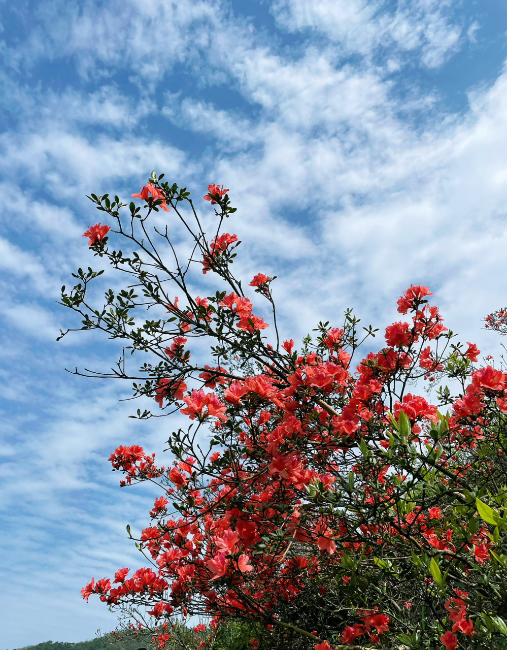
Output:
<svg viewBox="0 0 507 650">
<path fill-rule="evenodd" d="M 231 625 L 248 648 L 507 648 L 507 375 L 457 341 L 424 286 L 380 344 L 351 310 L 282 341 L 275 278 L 231 270 L 228 192 L 208 188 L 214 221 L 155 172 L 140 204 L 90 196 L 90 251 L 127 281 L 103 305 L 88 297 L 103 270 L 62 289 L 81 330 L 123 343 L 112 372 L 88 374 L 133 382 L 134 417 L 179 411 L 188 427 L 163 465 L 138 445 L 111 454 L 122 486 L 159 497 L 140 534 L 127 527 L 143 567 L 83 597 L 161 649 L 222 647 Z"/>
</svg>

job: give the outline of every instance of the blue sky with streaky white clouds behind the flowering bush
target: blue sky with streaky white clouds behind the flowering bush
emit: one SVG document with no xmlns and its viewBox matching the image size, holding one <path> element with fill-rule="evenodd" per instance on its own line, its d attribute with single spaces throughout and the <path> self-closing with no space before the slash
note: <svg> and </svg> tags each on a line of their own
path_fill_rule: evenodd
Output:
<svg viewBox="0 0 507 650">
<path fill-rule="evenodd" d="M 81 238 L 98 221 L 85 194 L 126 200 L 153 168 L 198 205 L 225 183 L 237 272 L 278 276 L 285 337 L 339 324 L 347 306 L 384 328 L 424 283 L 460 340 L 498 357 L 482 318 L 507 303 L 507 4 L 1 0 L 0 12 L 0 648 L 12 649 L 114 628 L 79 590 L 142 565 L 125 525 L 146 526 L 157 494 L 120 490 L 107 458 L 122 443 L 161 452 L 179 422 L 128 419 L 129 386 L 64 371 L 118 352 L 93 334 L 55 342 L 75 324 L 61 285 L 100 266 Z"/>
</svg>

